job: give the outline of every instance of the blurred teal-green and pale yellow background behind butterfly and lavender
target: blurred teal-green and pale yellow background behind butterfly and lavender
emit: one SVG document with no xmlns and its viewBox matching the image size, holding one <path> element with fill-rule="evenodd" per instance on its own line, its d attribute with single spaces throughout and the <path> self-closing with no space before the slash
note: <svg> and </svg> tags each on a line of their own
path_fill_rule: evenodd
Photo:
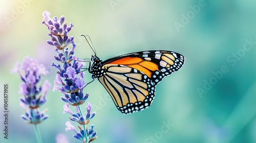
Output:
<svg viewBox="0 0 256 143">
<path fill-rule="evenodd" d="M 141 112 L 123 115 L 98 81 L 87 86 L 84 91 L 97 113 L 90 122 L 99 137 L 93 142 L 256 142 L 255 6 L 252 0 L 2 0 L 0 142 L 36 142 L 33 126 L 20 119 L 21 80 L 10 70 L 25 56 L 36 57 L 50 71 L 43 79 L 53 85 L 57 70 L 51 64 L 56 53 L 46 43 L 49 31 L 41 24 L 45 10 L 51 17 L 65 15 L 73 23 L 69 36 L 75 37 L 79 58 L 93 54 L 81 34 L 90 35 L 102 60 L 144 50 L 175 51 L 186 58 L 177 73 L 157 85 L 153 104 Z M 87 82 L 90 76 L 86 72 Z M 5 83 L 9 84 L 9 139 L 3 136 Z M 50 89 L 41 107 L 49 114 L 39 125 L 42 139 L 55 142 L 61 133 L 69 142 L 81 142 L 72 137 L 73 131 L 65 131 L 70 115 L 62 114 L 61 96 Z"/>
</svg>

